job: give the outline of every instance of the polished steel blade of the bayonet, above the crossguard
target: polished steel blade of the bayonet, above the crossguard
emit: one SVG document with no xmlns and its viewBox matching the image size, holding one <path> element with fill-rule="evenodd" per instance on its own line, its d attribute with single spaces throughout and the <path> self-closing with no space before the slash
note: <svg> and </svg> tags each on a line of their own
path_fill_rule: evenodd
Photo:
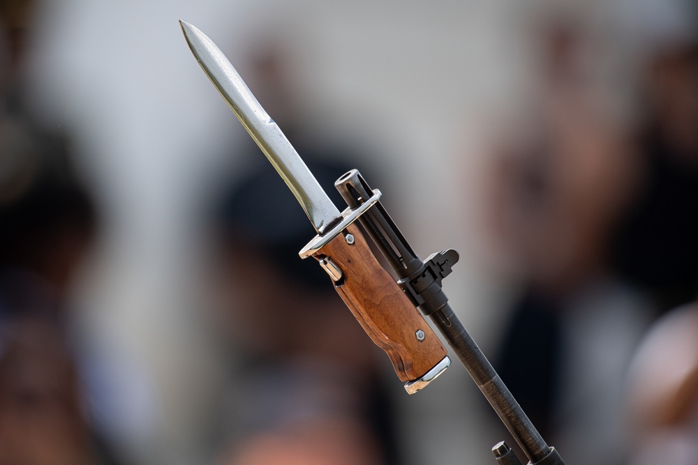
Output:
<svg viewBox="0 0 698 465">
<path fill-rule="evenodd" d="M 180 20 L 179 24 L 201 68 L 296 196 L 315 231 L 322 235 L 328 227 L 341 219 L 337 207 L 283 135 L 279 125 L 274 123 L 252 95 L 221 49 L 188 22 Z M 341 173 L 337 174 L 339 175 Z"/>
</svg>

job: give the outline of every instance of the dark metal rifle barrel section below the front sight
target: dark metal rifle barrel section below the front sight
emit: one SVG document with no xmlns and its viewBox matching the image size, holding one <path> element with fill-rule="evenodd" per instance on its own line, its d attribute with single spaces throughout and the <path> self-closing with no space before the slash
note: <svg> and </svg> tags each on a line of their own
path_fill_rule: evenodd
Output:
<svg viewBox="0 0 698 465">
<path fill-rule="evenodd" d="M 523 412 L 519 403 L 492 367 L 487 357 L 470 337 L 458 317 L 446 304 L 430 315 L 431 320 L 444 335 L 448 344 L 468 370 L 470 377 L 484 397 L 497 412 L 499 418 L 514 436 L 532 464 L 540 462 L 550 453 L 550 448 Z"/>
</svg>

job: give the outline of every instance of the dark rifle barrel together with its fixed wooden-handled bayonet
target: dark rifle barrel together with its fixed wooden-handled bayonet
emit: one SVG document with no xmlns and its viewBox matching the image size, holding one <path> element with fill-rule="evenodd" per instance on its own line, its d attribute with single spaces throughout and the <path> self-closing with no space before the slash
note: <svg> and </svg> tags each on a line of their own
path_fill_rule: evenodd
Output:
<svg viewBox="0 0 698 465">
<path fill-rule="evenodd" d="M 300 257 L 313 257 L 325 269 L 371 340 L 387 353 L 407 392 L 414 394 L 426 387 L 451 363 L 445 347 L 424 320 L 429 317 L 519 443 L 529 465 L 564 465 L 448 305 L 442 282 L 458 261 L 458 253 L 445 250 L 422 261 L 380 203 L 380 190 L 371 189 L 356 169 L 335 183 L 348 205 L 340 213 L 223 52 L 199 29 L 185 21 L 180 25 L 206 75 L 315 227 L 318 234 L 299 252 Z M 373 256 L 354 224 L 357 221 L 376 243 L 397 281 Z M 521 465 L 504 441 L 492 451 L 501 465 Z"/>
</svg>

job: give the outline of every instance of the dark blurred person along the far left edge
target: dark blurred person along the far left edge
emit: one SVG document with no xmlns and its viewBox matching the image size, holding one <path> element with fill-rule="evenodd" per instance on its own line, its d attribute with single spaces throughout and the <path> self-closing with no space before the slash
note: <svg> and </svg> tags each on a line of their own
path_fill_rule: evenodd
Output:
<svg viewBox="0 0 698 465">
<path fill-rule="evenodd" d="M 23 105 L 34 7 L 0 1 L 0 464 L 109 464 L 66 331 L 96 213 L 65 137 Z"/>
</svg>

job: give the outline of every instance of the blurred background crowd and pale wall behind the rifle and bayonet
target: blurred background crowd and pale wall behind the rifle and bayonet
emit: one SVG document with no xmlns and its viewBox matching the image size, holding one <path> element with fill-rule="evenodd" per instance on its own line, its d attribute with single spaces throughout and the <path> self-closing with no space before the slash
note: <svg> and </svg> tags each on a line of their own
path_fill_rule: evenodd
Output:
<svg viewBox="0 0 698 465">
<path fill-rule="evenodd" d="M 0 464 L 513 443 L 455 361 L 408 397 L 297 264 L 313 229 L 179 19 L 327 190 L 358 167 L 417 253 L 460 252 L 452 308 L 567 463 L 695 464 L 696 9 L 0 0 Z"/>
</svg>

